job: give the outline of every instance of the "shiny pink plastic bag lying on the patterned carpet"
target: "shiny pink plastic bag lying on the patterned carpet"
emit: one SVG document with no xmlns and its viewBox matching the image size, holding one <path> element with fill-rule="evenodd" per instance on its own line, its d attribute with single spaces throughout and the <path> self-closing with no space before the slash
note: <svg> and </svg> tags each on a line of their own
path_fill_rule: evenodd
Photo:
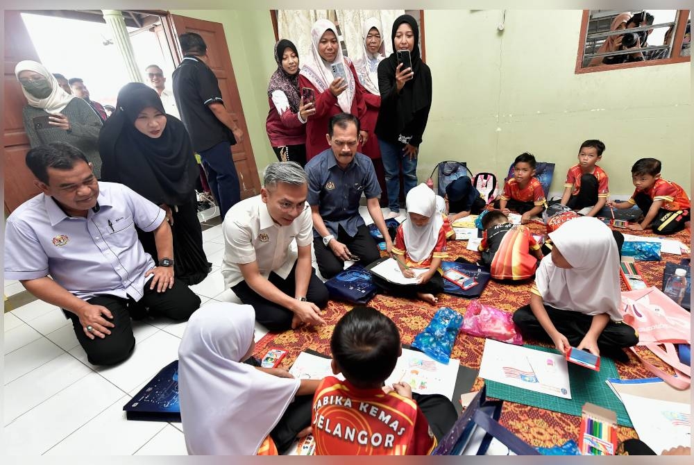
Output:
<svg viewBox="0 0 694 465">
<path fill-rule="evenodd" d="M 468 305 L 460 330 L 471 336 L 523 345 L 523 337 L 516 330 L 513 314 L 484 305 L 477 300 L 471 301 Z"/>
</svg>

